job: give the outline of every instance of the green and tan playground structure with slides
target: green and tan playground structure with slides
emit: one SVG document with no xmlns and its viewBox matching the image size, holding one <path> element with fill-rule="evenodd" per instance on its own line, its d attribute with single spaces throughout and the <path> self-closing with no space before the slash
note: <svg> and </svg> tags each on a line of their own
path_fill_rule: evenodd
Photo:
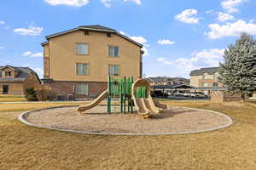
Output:
<svg viewBox="0 0 256 170">
<path fill-rule="evenodd" d="M 80 105 L 78 111 L 87 111 L 107 98 L 108 113 L 135 113 L 144 118 L 160 114 L 166 105 L 156 103 L 150 96 L 150 84 L 146 79 L 133 82 L 133 77 L 108 78 L 108 89 L 89 105 Z"/>
</svg>

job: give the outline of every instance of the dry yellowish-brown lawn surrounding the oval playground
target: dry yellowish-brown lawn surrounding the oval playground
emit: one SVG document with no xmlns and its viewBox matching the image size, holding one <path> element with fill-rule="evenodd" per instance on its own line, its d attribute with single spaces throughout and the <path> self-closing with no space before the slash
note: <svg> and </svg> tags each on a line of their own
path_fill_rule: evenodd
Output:
<svg viewBox="0 0 256 170">
<path fill-rule="evenodd" d="M 22 111 L 54 105 L 71 104 L 0 105 L 0 169 L 256 169 L 256 104 L 168 102 L 220 111 L 235 122 L 222 130 L 186 135 L 84 135 L 16 120 Z"/>
</svg>

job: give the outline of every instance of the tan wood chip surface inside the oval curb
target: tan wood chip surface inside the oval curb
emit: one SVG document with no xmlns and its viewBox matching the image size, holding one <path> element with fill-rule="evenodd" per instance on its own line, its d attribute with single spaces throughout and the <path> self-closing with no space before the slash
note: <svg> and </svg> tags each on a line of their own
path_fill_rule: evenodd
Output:
<svg viewBox="0 0 256 170">
<path fill-rule="evenodd" d="M 178 106 L 149 119 L 137 114 L 108 114 L 107 106 L 96 106 L 82 115 L 77 109 L 77 106 L 52 108 L 32 111 L 23 117 L 38 127 L 124 135 L 200 133 L 232 124 L 230 117 L 224 114 Z"/>
</svg>

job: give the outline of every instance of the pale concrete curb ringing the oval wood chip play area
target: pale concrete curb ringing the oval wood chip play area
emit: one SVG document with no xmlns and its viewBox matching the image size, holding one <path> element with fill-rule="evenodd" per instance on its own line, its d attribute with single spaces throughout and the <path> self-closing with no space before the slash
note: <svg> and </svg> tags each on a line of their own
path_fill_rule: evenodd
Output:
<svg viewBox="0 0 256 170">
<path fill-rule="evenodd" d="M 46 128 L 46 129 L 50 129 L 50 130 L 58 130 L 58 131 L 67 132 L 67 133 L 82 133 L 82 134 L 96 134 L 96 135 L 117 135 L 117 136 L 155 136 L 155 135 L 177 135 L 177 134 L 204 133 L 204 132 L 211 132 L 211 131 L 215 131 L 215 130 L 218 130 L 218 129 L 223 129 L 223 128 L 226 128 L 226 127 L 230 127 L 233 124 L 233 121 L 232 121 L 230 116 L 226 116 L 223 113 L 219 113 L 218 111 L 196 109 L 196 108 L 190 108 L 190 107 L 182 107 L 182 108 L 192 109 L 192 110 L 196 110 L 196 111 L 210 111 L 210 112 L 215 113 L 219 116 L 224 116 L 228 120 L 228 123 L 224 126 L 218 126 L 218 127 L 214 127 L 214 128 L 210 128 L 210 129 L 206 129 L 206 130 L 197 130 L 197 131 L 180 132 L 180 133 L 96 133 L 96 132 L 77 131 L 77 130 L 70 130 L 70 129 L 48 127 L 48 126 L 43 126 L 43 125 L 36 125 L 36 124 L 32 124 L 31 122 L 27 122 L 27 120 L 26 120 L 26 117 L 28 115 L 30 115 L 30 114 L 32 114 L 33 112 L 36 112 L 36 111 L 44 111 L 44 110 L 50 110 L 50 109 L 56 109 L 56 108 L 75 107 L 75 106 L 79 106 L 79 105 L 55 106 L 55 107 L 48 107 L 48 108 L 44 108 L 44 109 L 26 111 L 26 112 L 20 114 L 20 116 L 18 116 L 18 119 L 19 119 L 20 122 L 23 122 L 24 124 L 26 124 L 28 126 L 31 126 L 31 127 Z"/>
</svg>

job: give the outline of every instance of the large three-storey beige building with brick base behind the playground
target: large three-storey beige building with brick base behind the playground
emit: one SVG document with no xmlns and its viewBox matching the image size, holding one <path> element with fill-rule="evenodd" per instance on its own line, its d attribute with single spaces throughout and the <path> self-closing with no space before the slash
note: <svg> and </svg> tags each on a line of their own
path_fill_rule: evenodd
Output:
<svg viewBox="0 0 256 170">
<path fill-rule="evenodd" d="M 143 45 L 111 28 L 79 26 L 46 39 L 43 82 L 54 95 L 98 95 L 108 76 L 143 75 Z"/>
</svg>

